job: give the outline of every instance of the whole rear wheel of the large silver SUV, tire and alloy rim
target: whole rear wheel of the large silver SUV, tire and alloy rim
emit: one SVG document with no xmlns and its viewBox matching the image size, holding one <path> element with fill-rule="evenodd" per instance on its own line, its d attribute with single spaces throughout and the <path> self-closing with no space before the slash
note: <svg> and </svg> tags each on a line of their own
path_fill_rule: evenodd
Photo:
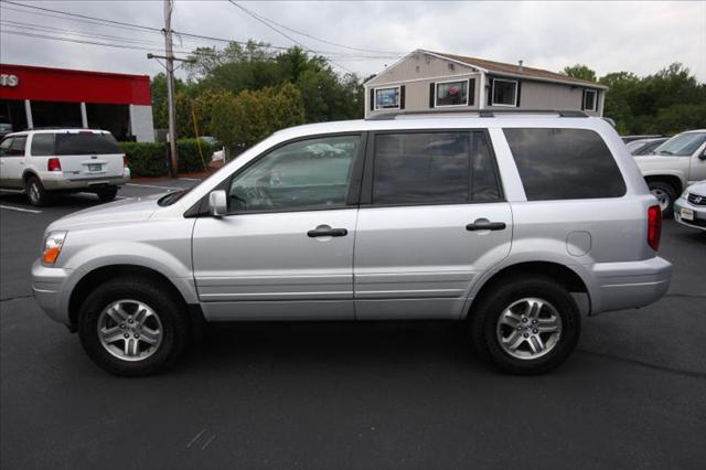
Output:
<svg viewBox="0 0 706 470">
<path fill-rule="evenodd" d="M 478 351 L 502 371 L 538 374 L 559 365 L 576 348 L 580 314 L 571 295 L 549 278 L 515 278 L 471 313 Z"/>
</svg>

